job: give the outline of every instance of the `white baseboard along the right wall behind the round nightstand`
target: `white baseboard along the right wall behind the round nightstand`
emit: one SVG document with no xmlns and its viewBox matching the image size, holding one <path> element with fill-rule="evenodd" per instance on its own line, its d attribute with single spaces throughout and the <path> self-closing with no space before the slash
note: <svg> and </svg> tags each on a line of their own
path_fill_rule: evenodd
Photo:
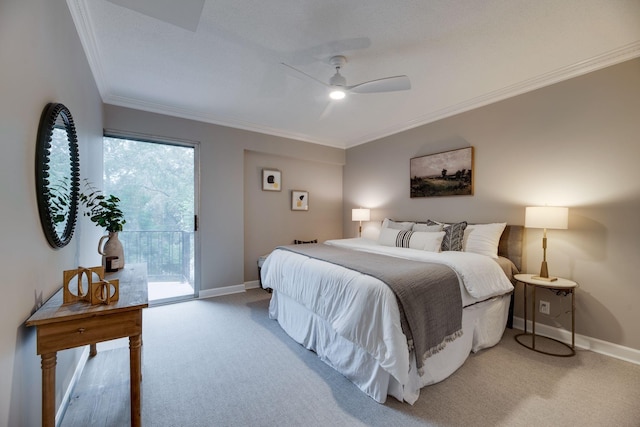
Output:
<svg viewBox="0 0 640 427">
<path fill-rule="evenodd" d="M 513 318 L 513 327 L 516 329 L 524 330 L 524 320 L 521 317 Z M 532 330 L 531 321 L 527 321 L 527 331 Z M 543 325 L 536 323 L 536 335 L 542 335 L 549 338 L 557 339 L 563 343 L 571 345 L 571 331 L 566 329 L 556 328 L 549 325 Z M 634 348 L 624 347 L 619 344 L 610 343 L 607 341 L 599 340 L 597 338 L 587 337 L 585 335 L 575 335 L 576 348 L 583 350 L 590 350 L 595 353 L 604 354 L 606 356 L 614 357 L 616 359 L 624 360 L 626 362 L 640 365 L 640 350 Z"/>
</svg>

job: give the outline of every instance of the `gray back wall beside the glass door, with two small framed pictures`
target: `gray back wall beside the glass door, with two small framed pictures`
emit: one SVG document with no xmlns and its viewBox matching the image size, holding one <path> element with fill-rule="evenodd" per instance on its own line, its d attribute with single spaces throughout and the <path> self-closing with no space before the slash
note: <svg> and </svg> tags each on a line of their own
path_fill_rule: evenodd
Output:
<svg viewBox="0 0 640 427">
<path fill-rule="evenodd" d="M 340 236 L 342 181 L 334 177 L 326 188 L 320 183 L 331 171 L 341 173 L 344 150 L 113 105 L 105 105 L 104 112 L 105 128 L 118 133 L 200 143 L 201 291 L 256 280 L 257 256 L 287 243 L 305 228 L 314 227 L 318 236 Z M 269 156 L 245 156 L 246 150 Z M 247 171 L 245 158 L 250 167 Z M 256 206 L 251 197 L 260 188 L 256 170 L 263 165 L 283 171 L 281 193 L 257 196 L 268 209 Z M 304 166 L 308 166 L 306 170 Z M 308 190 L 313 211 L 291 212 L 287 201 L 290 189 Z M 318 202 L 324 199 L 330 203 L 314 205 L 315 197 Z M 244 205 L 247 198 L 249 209 Z M 331 219 L 336 223 L 331 224 Z M 292 228 L 285 231 L 286 225 Z M 274 236 L 269 230 L 282 230 L 283 234 Z M 250 246 L 245 248 L 247 240 Z"/>
</svg>

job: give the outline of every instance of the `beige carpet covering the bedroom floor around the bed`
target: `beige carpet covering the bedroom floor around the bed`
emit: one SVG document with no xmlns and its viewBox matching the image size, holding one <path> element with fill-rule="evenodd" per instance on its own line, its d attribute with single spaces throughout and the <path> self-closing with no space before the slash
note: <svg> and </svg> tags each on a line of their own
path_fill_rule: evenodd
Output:
<svg viewBox="0 0 640 427">
<path fill-rule="evenodd" d="M 546 356 L 512 330 L 413 406 L 378 404 L 269 320 L 269 297 L 255 289 L 145 310 L 145 426 L 640 426 L 640 366 L 588 351 Z M 126 425 L 127 398 L 127 349 L 102 351 L 62 426 Z"/>
</svg>

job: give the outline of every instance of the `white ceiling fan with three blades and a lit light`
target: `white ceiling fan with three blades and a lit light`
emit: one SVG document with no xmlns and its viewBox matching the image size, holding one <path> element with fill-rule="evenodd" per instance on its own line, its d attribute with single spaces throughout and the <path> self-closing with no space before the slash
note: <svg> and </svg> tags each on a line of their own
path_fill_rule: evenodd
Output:
<svg viewBox="0 0 640 427">
<path fill-rule="evenodd" d="M 329 59 L 329 63 L 336 69 L 336 73 L 329 79 L 328 84 L 316 79 L 315 77 L 305 73 L 304 71 L 298 70 L 291 65 L 285 64 L 284 62 L 282 62 L 281 64 L 296 71 L 297 73 L 302 74 L 303 76 L 306 76 L 320 83 L 323 86 L 328 87 L 331 90 L 329 96 L 332 99 L 342 99 L 346 96 L 347 93 L 380 93 L 411 89 L 411 81 L 409 80 L 409 77 L 405 75 L 383 77 L 381 79 L 370 80 L 368 82 L 347 86 L 347 79 L 345 79 L 344 76 L 340 74 L 340 69 L 344 66 L 344 64 L 347 63 L 347 58 L 342 55 L 332 56 Z"/>
</svg>

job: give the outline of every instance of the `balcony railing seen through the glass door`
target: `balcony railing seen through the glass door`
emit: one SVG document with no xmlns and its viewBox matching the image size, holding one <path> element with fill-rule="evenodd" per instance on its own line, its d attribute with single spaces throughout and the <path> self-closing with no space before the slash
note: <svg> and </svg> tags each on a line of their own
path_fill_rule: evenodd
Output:
<svg viewBox="0 0 640 427">
<path fill-rule="evenodd" d="M 147 264 L 149 282 L 194 282 L 194 242 L 189 231 L 121 231 L 127 263 Z"/>
</svg>

